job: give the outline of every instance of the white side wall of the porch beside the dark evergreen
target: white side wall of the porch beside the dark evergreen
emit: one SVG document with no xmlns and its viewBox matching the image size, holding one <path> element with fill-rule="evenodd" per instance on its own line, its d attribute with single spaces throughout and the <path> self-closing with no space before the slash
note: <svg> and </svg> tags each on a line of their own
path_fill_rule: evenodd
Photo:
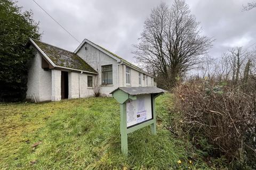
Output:
<svg viewBox="0 0 256 170">
<path fill-rule="evenodd" d="M 29 61 L 26 98 L 37 102 L 51 100 L 51 70 L 42 69 L 42 56 L 37 51 Z"/>
</svg>

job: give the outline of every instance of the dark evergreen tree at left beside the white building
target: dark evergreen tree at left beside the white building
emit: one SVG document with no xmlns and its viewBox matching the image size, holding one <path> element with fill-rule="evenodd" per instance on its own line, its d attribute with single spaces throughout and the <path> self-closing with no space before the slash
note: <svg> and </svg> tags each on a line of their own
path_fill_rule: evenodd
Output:
<svg viewBox="0 0 256 170">
<path fill-rule="evenodd" d="M 0 101 L 20 101 L 26 97 L 27 62 L 34 56 L 25 45 L 41 33 L 33 13 L 9 0 L 0 2 L 0 32 Z"/>
</svg>

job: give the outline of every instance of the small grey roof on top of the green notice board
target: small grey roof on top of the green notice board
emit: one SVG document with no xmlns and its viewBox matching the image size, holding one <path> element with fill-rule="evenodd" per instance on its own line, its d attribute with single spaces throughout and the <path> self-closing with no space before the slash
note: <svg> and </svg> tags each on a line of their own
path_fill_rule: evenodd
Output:
<svg viewBox="0 0 256 170">
<path fill-rule="evenodd" d="M 159 94 L 162 92 L 165 92 L 163 89 L 159 89 L 157 87 L 119 87 L 116 90 L 122 90 L 126 92 L 129 95 L 135 96 L 135 95 L 146 95 L 146 94 Z M 110 94 L 113 94 L 114 91 L 110 92 Z"/>
</svg>

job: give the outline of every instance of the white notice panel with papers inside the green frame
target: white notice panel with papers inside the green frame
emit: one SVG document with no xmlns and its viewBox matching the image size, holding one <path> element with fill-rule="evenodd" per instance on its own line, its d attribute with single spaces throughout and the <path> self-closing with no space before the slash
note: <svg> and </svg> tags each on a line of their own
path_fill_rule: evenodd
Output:
<svg viewBox="0 0 256 170">
<path fill-rule="evenodd" d="M 137 100 L 126 103 L 127 128 L 149 121 L 153 118 L 151 95 L 138 95 Z"/>
</svg>

